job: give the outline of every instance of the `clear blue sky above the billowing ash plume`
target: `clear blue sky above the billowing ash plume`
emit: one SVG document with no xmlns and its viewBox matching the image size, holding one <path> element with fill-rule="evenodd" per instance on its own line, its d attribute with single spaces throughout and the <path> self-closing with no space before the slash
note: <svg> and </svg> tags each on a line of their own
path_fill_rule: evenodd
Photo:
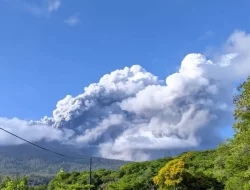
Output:
<svg viewBox="0 0 250 190">
<path fill-rule="evenodd" d="M 190 53 L 201 53 L 206 58 L 193 55 L 187 57 L 185 62 L 201 60 L 197 62 L 202 64 L 210 58 L 221 61 L 225 52 L 232 55 L 239 51 L 245 55 L 249 47 L 249 44 L 244 44 L 250 32 L 249 6 L 248 0 L 2 0 L 0 117 L 16 117 L 26 125 L 26 121 L 39 121 L 48 116 L 52 117 L 53 124 L 60 120 L 57 125 L 62 125 L 61 120 L 68 121 L 74 117 L 65 119 L 65 116 L 62 119 L 70 105 L 66 101 L 67 109 L 61 108 L 60 105 L 56 106 L 58 101 L 65 100 L 66 95 L 81 96 L 84 88 L 92 83 L 105 87 L 107 82 L 99 82 L 100 78 L 117 69 L 128 67 L 119 75 L 137 78 L 136 73 L 140 73 L 144 76 L 143 81 L 147 79 L 143 87 L 139 82 L 136 82 L 139 86 L 133 86 L 137 90 L 131 90 L 133 93 L 128 95 L 133 99 L 144 87 L 162 85 L 160 81 L 164 83 L 171 74 L 181 72 L 180 65 L 184 65 L 182 72 L 189 72 L 182 61 Z M 227 43 L 230 36 L 233 47 Z M 248 60 L 248 56 L 245 57 Z M 240 61 L 246 59 L 241 58 Z M 242 62 L 242 68 L 245 67 L 248 72 L 248 65 Z M 133 65 L 140 67 L 135 69 Z M 204 76 L 201 73 L 197 77 L 202 75 L 202 78 L 209 78 L 207 70 L 204 69 Z M 210 74 L 213 73 L 210 71 Z M 239 76 L 239 73 L 235 76 Z M 229 80 L 232 84 L 230 89 L 247 75 L 244 73 L 241 77 L 232 77 L 235 80 Z M 114 78 L 108 81 L 115 83 L 118 79 Z M 218 79 L 218 76 L 215 78 Z M 220 79 L 227 81 L 225 77 Z M 127 100 L 128 97 L 116 99 L 119 102 L 126 99 L 129 105 L 133 104 L 132 100 Z M 147 96 L 144 97 L 145 101 L 149 101 Z M 139 112 L 129 109 L 124 102 L 122 105 L 122 110 L 133 114 Z M 63 114 L 57 114 L 56 111 Z M 67 113 L 72 113 L 72 110 Z M 144 117 L 152 119 L 155 115 L 147 113 Z M 113 116 L 108 115 L 107 118 Z M 231 127 L 232 122 L 223 125 Z M 232 136 L 232 130 L 226 127 L 220 129 L 220 133 L 223 137 Z M 127 157 L 122 155 L 118 158 Z M 133 156 L 128 158 L 137 159 Z"/>
</svg>

